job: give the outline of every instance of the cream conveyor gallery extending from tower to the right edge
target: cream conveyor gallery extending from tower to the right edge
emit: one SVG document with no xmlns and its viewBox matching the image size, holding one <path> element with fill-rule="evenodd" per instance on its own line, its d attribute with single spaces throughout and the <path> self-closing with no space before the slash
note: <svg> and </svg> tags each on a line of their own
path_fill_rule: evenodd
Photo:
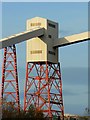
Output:
<svg viewBox="0 0 90 120">
<path fill-rule="evenodd" d="M 67 46 L 70 44 L 79 43 L 87 40 L 90 40 L 90 32 L 84 32 L 54 40 L 53 47 L 57 48 L 57 47 Z"/>
</svg>

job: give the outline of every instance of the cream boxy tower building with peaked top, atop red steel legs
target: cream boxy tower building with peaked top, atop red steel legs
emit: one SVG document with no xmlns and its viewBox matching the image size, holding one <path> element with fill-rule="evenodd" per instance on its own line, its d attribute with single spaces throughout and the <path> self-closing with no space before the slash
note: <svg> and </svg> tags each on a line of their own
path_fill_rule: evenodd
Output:
<svg viewBox="0 0 90 120">
<path fill-rule="evenodd" d="M 58 63 L 58 49 L 53 48 L 58 38 L 58 23 L 40 17 L 27 20 L 27 30 L 37 28 L 45 28 L 45 35 L 27 41 L 27 62 Z"/>
</svg>

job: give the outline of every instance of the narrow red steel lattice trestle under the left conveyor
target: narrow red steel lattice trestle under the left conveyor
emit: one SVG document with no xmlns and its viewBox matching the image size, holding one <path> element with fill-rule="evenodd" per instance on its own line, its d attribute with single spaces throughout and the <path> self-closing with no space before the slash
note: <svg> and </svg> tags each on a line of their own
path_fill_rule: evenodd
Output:
<svg viewBox="0 0 90 120">
<path fill-rule="evenodd" d="M 20 110 L 17 60 L 15 45 L 4 48 L 2 67 L 2 99 L 13 102 Z"/>
</svg>

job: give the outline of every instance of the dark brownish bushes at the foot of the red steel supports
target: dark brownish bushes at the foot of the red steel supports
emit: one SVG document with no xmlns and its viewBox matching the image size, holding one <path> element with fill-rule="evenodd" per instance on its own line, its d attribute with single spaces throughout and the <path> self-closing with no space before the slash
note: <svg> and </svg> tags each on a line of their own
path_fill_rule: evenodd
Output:
<svg viewBox="0 0 90 120">
<path fill-rule="evenodd" d="M 33 105 L 30 105 L 28 112 L 22 108 L 20 112 L 15 108 L 13 102 L 4 103 L 2 106 L 2 120 L 48 120 L 42 111 L 37 110 Z"/>
</svg>

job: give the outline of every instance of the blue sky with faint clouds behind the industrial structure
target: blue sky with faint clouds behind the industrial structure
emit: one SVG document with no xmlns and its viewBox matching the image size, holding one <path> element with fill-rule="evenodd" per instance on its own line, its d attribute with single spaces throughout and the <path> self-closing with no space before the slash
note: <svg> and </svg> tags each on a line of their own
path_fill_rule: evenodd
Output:
<svg viewBox="0 0 90 120">
<path fill-rule="evenodd" d="M 26 20 L 44 17 L 59 23 L 59 37 L 88 30 L 88 3 L 2 3 L 2 38 L 26 30 Z M 17 47 L 20 98 L 23 103 L 26 43 Z M 23 54 L 21 52 L 23 51 Z M 3 50 L 0 50 L 0 55 Z M 1 60 L 2 61 L 2 60 Z M 59 48 L 65 113 L 84 114 L 88 105 L 88 42 Z M 0 69 L 2 62 L 0 63 Z M 0 73 L 1 74 L 1 73 Z M 1 80 L 0 80 L 1 83 Z"/>
</svg>

